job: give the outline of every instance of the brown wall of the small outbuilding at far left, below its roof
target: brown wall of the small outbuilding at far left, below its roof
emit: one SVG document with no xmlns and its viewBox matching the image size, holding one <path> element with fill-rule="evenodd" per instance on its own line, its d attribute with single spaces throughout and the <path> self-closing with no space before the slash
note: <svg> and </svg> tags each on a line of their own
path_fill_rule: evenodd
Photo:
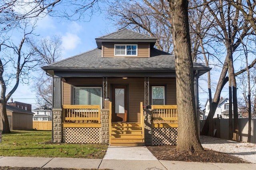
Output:
<svg viewBox="0 0 256 170">
<path fill-rule="evenodd" d="M 12 113 L 12 130 L 32 130 L 33 114 Z"/>
</svg>

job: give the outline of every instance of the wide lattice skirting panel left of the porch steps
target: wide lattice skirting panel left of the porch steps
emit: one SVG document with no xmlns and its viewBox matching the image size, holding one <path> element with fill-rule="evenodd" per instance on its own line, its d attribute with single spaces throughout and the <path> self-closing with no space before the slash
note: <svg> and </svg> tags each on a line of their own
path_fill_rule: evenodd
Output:
<svg viewBox="0 0 256 170">
<path fill-rule="evenodd" d="M 64 127 L 64 143 L 100 143 L 100 127 Z"/>
</svg>

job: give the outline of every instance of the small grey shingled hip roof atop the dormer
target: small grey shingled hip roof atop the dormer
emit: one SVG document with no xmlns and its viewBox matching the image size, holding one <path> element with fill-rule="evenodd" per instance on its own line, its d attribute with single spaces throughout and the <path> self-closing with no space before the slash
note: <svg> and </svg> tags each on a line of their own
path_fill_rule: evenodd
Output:
<svg viewBox="0 0 256 170">
<path fill-rule="evenodd" d="M 96 39 L 156 39 L 150 37 L 149 35 L 144 35 L 142 33 L 137 33 L 128 29 L 121 29 L 116 32 L 110 33 L 108 35 L 103 35 Z"/>
</svg>

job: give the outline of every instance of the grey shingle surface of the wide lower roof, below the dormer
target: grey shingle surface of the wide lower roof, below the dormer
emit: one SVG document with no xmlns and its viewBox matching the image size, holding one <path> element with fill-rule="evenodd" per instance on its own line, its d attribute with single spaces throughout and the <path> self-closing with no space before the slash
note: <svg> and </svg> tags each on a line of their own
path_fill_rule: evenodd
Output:
<svg viewBox="0 0 256 170">
<path fill-rule="evenodd" d="M 48 68 L 68 68 L 81 70 L 175 70 L 174 55 L 165 53 L 158 49 L 151 49 L 151 57 L 121 58 L 121 57 L 101 57 L 101 49 L 91 51 L 64 59 L 57 63 L 44 66 Z M 206 68 L 206 66 L 194 63 L 194 68 Z"/>
</svg>

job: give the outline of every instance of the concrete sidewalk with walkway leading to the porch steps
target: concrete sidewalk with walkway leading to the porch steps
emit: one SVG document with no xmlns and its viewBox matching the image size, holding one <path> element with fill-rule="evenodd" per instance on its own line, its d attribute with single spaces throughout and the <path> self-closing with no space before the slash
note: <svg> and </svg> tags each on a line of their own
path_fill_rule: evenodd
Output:
<svg viewBox="0 0 256 170">
<path fill-rule="evenodd" d="M 111 170 L 252 170 L 255 164 L 157 160 L 146 147 L 108 147 L 103 159 L 0 156 L 0 166 Z"/>
</svg>

